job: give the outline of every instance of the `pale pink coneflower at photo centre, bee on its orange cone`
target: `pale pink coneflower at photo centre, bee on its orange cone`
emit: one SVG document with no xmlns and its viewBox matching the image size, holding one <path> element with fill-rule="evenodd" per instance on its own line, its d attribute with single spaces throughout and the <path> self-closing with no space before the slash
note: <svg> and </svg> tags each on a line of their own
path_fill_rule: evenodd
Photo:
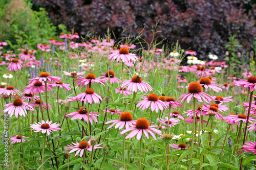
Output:
<svg viewBox="0 0 256 170">
<path fill-rule="evenodd" d="M 127 86 L 128 86 L 128 87 L 127 87 Z M 132 78 L 132 80 L 126 80 L 126 81 L 124 81 L 124 82 L 121 84 L 120 87 L 121 87 L 121 88 L 126 87 L 128 90 L 134 91 L 134 92 L 137 92 L 138 89 L 139 89 L 141 92 L 145 91 L 146 93 L 147 93 L 148 90 L 153 91 L 153 88 L 152 88 L 149 84 L 142 82 L 142 79 L 141 79 L 141 77 L 139 77 L 139 76 L 134 76 L 134 77 Z"/>
</svg>

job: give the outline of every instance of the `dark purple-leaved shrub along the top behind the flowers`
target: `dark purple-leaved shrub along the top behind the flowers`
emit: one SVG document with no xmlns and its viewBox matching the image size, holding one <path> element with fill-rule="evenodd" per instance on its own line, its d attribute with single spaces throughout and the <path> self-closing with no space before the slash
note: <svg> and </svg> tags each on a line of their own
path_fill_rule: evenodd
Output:
<svg viewBox="0 0 256 170">
<path fill-rule="evenodd" d="M 205 59 L 210 52 L 224 56 L 228 37 L 237 33 L 241 50 L 253 47 L 255 38 L 255 5 L 247 10 L 238 0 L 34 0 L 34 4 L 48 9 L 55 25 L 64 23 L 69 30 L 86 35 L 88 31 L 104 35 L 109 28 L 118 37 L 138 35 L 143 28 L 146 41 L 153 39 L 156 26 L 159 39 L 166 38 L 191 47 Z M 235 27 L 234 21 L 239 21 Z"/>
</svg>

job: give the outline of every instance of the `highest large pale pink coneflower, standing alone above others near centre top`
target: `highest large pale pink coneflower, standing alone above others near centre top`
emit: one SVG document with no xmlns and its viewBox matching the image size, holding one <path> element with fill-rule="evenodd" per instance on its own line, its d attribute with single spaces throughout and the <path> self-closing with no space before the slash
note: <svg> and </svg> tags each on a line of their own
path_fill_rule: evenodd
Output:
<svg viewBox="0 0 256 170">
<path fill-rule="evenodd" d="M 129 53 L 128 48 L 121 47 L 119 53 L 114 53 L 108 56 L 111 62 L 117 59 L 117 62 L 121 59 L 122 62 L 131 62 L 131 61 L 139 61 L 138 57 L 135 54 Z"/>
</svg>

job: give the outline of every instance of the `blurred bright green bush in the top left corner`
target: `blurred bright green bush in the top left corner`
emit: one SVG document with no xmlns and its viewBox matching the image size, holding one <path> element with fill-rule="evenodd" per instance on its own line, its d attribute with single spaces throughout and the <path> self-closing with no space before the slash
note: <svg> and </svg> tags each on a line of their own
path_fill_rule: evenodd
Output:
<svg viewBox="0 0 256 170">
<path fill-rule="evenodd" d="M 44 8 L 31 10 L 32 3 L 23 0 L 4 0 L 0 2 L 0 39 L 8 42 L 8 50 L 25 48 L 36 49 L 37 43 L 48 42 L 49 37 L 56 36 L 56 27 L 51 23 Z M 66 32 L 65 25 L 58 25 Z"/>
</svg>

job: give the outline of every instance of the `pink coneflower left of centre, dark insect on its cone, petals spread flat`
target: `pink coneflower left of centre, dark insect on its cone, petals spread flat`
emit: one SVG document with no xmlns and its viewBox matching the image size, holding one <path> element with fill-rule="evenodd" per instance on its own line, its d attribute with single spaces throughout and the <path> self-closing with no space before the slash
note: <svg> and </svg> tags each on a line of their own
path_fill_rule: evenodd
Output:
<svg viewBox="0 0 256 170">
<path fill-rule="evenodd" d="M 95 122 L 98 122 L 97 118 L 95 116 L 99 116 L 99 113 L 89 113 L 89 121 L 91 124 L 93 124 L 93 120 Z M 66 115 L 67 117 L 72 117 L 71 120 L 75 119 L 83 119 L 88 123 L 88 110 L 85 107 L 81 107 L 79 110 L 76 112 L 70 113 Z"/>
</svg>

